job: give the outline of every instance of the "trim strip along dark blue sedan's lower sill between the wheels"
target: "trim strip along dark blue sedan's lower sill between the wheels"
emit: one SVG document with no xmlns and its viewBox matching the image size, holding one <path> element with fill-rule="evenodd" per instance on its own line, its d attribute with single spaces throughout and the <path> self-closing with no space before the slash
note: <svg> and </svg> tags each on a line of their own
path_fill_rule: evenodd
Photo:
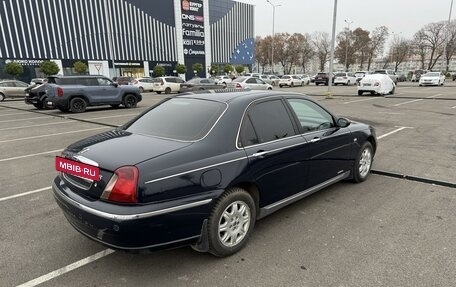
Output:
<svg viewBox="0 0 456 287">
<path fill-rule="evenodd" d="M 291 196 L 289 196 L 287 198 L 284 198 L 284 199 L 282 199 L 280 201 L 277 201 L 277 202 L 274 202 L 274 203 L 272 203 L 272 204 L 270 204 L 268 206 L 265 206 L 265 207 L 260 209 L 260 215 L 259 215 L 258 218 L 263 218 L 263 217 L 265 217 L 265 216 L 267 216 L 267 215 L 279 210 L 280 208 L 282 208 L 282 207 L 284 207 L 284 206 L 286 206 L 288 204 L 291 204 L 291 203 L 293 203 L 295 201 L 298 201 L 298 200 L 300 200 L 300 199 L 302 199 L 302 198 L 304 198 L 304 197 L 306 197 L 308 195 L 311 195 L 312 193 L 317 192 L 317 191 L 319 191 L 319 190 L 321 190 L 321 189 L 323 189 L 323 188 L 325 188 L 327 186 L 330 186 L 333 183 L 341 181 L 342 179 L 347 178 L 349 175 L 350 175 L 350 171 L 347 170 L 344 173 L 341 173 L 341 174 L 339 174 L 339 175 L 337 175 L 337 176 L 335 176 L 335 177 L 333 177 L 331 179 L 328 179 L 325 182 L 322 182 L 322 183 L 320 183 L 318 185 L 315 185 L 315 186 L 313 186 L 311 188 L 308 188 L 308 189 L 306 189 L 304 191 L 301 191 L 301 192 L 296 193 L 294 195 L 291 195 Z"/>
</svg>

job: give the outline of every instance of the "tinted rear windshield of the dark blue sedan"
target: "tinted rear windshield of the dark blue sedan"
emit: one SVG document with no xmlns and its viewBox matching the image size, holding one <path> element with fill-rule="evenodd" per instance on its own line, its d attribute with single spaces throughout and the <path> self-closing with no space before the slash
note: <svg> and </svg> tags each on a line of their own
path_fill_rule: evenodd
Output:
<svg viewBox="0 0 456 287">
<path fill-rule="evenodd" d="M 209 133 L 225 109 L 226 104 L 220 102 L 173 98 L 142 115 L 126 130 L 173 140 L 196 141 Z"/>
</svg>

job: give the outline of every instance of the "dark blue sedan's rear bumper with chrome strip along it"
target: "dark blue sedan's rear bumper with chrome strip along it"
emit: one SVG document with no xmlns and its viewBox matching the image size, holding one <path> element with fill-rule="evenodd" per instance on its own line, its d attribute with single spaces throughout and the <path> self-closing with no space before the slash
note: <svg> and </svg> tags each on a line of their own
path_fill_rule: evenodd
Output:
<svg viewBox="0 0 456 287">
<path fill-rule="evenodd" d="M 52 188 L 56 202 L 76 230 L 115 249 L 163 249 L 195 243 L 212 207 L 212 199 L 206 199 L 168 208 L 150 205 L 144 212 L 145 206 L 89 201 L 70 191 L 59 177 Z M 115 212 L 116 207 L 122 214 Z"/>
</svg>

